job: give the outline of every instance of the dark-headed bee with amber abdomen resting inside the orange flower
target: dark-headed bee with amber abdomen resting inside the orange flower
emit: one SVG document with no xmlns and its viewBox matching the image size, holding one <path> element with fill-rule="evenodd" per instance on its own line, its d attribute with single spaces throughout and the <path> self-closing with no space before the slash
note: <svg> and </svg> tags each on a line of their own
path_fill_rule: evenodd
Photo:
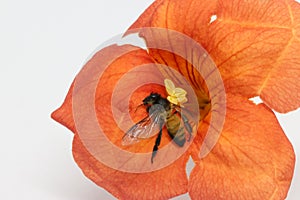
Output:
<svg viewBox="0 0 300 200">
<path fill-rule="evenodd" d="M 139 142 L 140 139 L 147 139 L 157 134 L 151 157 L 151 163 L 153 163 L 161 142 L 164 126 L 167 128 L 168 135 L 179 147 L 184 146 L 185 142 L 190 140 L 192 126 L 188 118 L 180 112 L 180 106 L 170 102 L 168 98 L 164 98 L 158 93 L 151 93 L 147 96 L 141 106 L 146 107 L 148 116 L 137 122 L 125 133 L 122 138 L 123 145 L 131 145 Z M 185 130 L 188 137 L 186 137 Z"/>
</svg>

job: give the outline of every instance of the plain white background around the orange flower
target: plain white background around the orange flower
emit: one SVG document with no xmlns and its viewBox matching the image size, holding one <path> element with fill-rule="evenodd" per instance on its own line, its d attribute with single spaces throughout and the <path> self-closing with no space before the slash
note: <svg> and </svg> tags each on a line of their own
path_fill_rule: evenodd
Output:
<svg viewBox="0 0 300 200">
<path fill-rule="evenodd" d="M 73 134 L 50 113 L 90 53 L 151 2 L 0 0 L 0 199 L 114 199 L 83 176 L 71 154 Z M 299 109 L 279 115 L 298 157 L 299 119 Z M 299 174 L 297 163 L 289 200 L 300 198 Z"/>
</svg>

